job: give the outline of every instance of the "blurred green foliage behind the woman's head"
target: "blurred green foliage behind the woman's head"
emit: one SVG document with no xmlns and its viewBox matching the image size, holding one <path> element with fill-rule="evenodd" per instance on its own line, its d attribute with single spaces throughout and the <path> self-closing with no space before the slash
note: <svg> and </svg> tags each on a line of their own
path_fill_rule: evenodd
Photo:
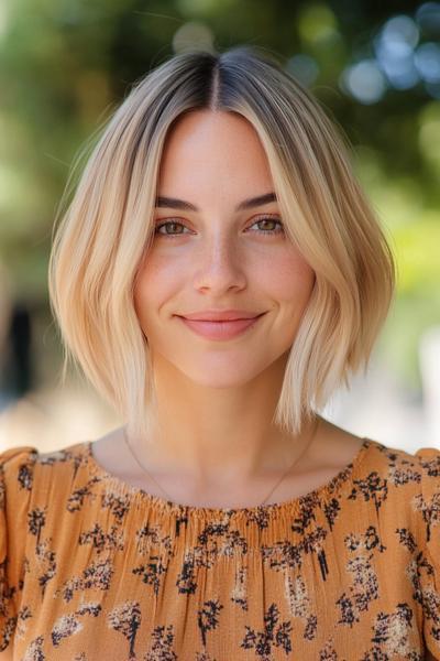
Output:
<svg viewBox="0 0 440 661">
<path fill-rule="evenodd" d="M 414 15 L 417 3 L 400 2 Z M 86 139 L 130 85 L 185 39 L 256 44 L 317 67 L 314 94 L 353 143 L 353 162 L 398 259 L 384 356 L 419 386 L 420 333 L 440 319 L 440 98 L 389 88 L 376 104 L 341 89 L 350 63 L 395 14 L 392 2 L 9 0 L 0 6 L 0 260 L 14 294 L 50 323 L 47 259 L 56 206 Z M 294 59 L 292 59 L 294 62 Z M 440 95 L 439 95 L 440 96 Z"/>
</svg>

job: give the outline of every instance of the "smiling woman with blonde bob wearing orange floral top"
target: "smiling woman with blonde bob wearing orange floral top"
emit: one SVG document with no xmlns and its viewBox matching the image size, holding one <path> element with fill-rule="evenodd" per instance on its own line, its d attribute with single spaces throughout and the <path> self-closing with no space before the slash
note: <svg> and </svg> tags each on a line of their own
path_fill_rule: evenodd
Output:
<svg viewBox="0 0 440 661">
<path fill-rule="evenodd" d="M 3 453 L 1 649 L 440 659 L 440 451 L 318 414 L 394 282 L 343 140 L 278 63 L 188 52 L 135 85 L 50 264 L 66 356 L 127 424 Z"/>
</svg>

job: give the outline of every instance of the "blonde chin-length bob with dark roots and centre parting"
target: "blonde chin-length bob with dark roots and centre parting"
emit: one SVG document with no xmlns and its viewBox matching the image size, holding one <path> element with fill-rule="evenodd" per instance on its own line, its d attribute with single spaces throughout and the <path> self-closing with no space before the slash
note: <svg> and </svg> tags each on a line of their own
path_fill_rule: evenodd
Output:
<svg viewBox="0 0 440 661">
<path fill-rule="evenodd" d="M 235 112 L 266 152 L 287 238 L 316 273 L 286 364 L 273 423 L 298 434 L 350 372 L 365 371 L 387 316 L 395 261 L 351 166 L 349 141 L 278 61 L 251 46 L 186 51 L 135 82 L 99 127 L 63 207 L 48 266 L 51 307 L 69 358 L 147 437 L 157 400 L 134 308 L 153 241 L 161 154 L 173 123 L 198 109 Z M 75 167 L 74 167 L 75 170 Z M 73 172 L 69 174 L 70 185 Z M 54 226 L 55 229 L 55 226 Z"/>
</svg>

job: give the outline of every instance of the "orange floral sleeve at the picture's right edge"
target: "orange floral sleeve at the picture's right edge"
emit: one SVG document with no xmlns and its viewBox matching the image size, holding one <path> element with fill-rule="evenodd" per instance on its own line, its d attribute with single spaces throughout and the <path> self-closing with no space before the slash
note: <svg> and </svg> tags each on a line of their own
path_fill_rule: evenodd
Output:
<svg viewBox="0 0 440 661">
<path fill-rule="evenodd" d="M 440 449 L 416 452 L 420 489 L 413 499 L 420 539 L 419 579 L 427 651 L 440 660 Z M 429 657 L 431 658 L 431 657 Z"/>
</svg>

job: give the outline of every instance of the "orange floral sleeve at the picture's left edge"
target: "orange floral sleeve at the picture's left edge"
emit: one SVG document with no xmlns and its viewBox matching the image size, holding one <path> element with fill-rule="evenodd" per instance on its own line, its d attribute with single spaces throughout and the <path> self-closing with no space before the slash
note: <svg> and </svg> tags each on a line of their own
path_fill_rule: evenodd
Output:
<svg viewBox="0 0 440 661">
<path fill-rule="evenodd" d="M 21 586 L 15 578 L 16 572 L 11 568 L 18 566 L 20 559 L 13 556 L 19 540 L 12 538 L 16 531 L 25 530 L 21 514 L 29 500 L 26 490 L 22 502 L 18 502 L 16 497 L 22 491 L 20 467 L 25 464 L 30 451 L 35 448 L 12 447 L 0 453 L 0 653 L 11 649 L 16 627 L 15 599 Z"/>
</svg>

